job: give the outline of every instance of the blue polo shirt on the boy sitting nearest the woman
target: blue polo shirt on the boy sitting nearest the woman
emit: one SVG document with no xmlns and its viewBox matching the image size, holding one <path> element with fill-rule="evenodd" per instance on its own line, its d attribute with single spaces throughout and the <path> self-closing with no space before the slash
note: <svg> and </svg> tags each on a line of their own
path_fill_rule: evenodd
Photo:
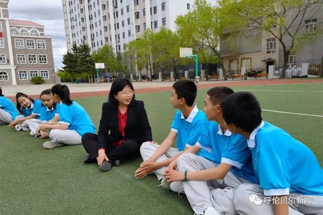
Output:
<svg viewBox="0 0 323 215">
<path fill-rule="evenodd" d="M 199 110 L 196 104 L 187 119 L 178 110 L 171 125 L 171 130 L 177 133 L 178 150 L 184 151 L 185 147 L 194 146 L 198 137 L 205 132 L 208 124 L 209 121 L 207 121 L 205 113 Z M 200 150 L 197 155 L 209 160 L 213 159 L 213 155 L 205 150 Z"/>
</svg>

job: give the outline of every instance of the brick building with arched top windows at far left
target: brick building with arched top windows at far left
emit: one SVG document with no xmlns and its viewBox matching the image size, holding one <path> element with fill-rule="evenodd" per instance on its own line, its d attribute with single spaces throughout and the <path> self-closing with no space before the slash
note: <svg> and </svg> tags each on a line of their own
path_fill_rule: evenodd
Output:
<svg viewBox="0 0 323 215">
<path fill-rule="evenodd" d="M 0 0 L 0 13 L 0 86 L 30 84 L 35 76 L 56 83 L 51 37 L 44 26 L 10 20 L 8 0 Z"/>
</svg>

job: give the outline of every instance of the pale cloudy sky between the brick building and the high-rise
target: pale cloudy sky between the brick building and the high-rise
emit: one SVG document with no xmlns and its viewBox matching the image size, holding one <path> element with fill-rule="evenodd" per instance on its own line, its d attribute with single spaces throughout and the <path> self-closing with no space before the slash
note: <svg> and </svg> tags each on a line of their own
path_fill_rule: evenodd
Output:
<svg viewBox="0 0 323 215">
<path fill-rule="evenodd" d="M 45 35 L 52 37 L 55 69 L 63 66 L 66 42 L 61 0 L 9 0 L 9 18 L 44 25 Z"/>
</svg>

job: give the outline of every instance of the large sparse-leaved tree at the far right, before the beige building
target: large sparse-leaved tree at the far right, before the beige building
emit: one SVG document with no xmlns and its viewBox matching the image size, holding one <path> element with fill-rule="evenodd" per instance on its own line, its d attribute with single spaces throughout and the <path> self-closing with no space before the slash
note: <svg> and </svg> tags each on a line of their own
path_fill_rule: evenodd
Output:
<svg viewBox="0 0 323 215">
<path fill-rule="evenodd" d="M 240 24 L 241 30 L 257 29 L 279 41 L 284 58 L 281 78 L 285 78 L 288 56 L 300 51 L 321 34 L 317 27 L 309 27 L 304 33 L 305 20 L 319 13 L 321 1 L 222 0 L 220 5 L 232 20 L 237 21 L 235 24 Z"/>
</svg>

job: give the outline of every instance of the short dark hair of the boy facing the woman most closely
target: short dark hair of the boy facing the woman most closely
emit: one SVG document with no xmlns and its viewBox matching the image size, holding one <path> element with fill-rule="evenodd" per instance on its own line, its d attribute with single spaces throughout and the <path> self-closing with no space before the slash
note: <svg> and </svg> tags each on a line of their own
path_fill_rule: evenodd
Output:
<svg viewBox="0 0 323 215">
<path fill-rule="evenodd" d="M 173 89 L 175 90 L 178 99 L 184 98 L 188 106 L 194 104 L 197 95 L 197 87 L 194 82 L 190 80 L 180 80 L 173 84 Z"/>
</svg>

